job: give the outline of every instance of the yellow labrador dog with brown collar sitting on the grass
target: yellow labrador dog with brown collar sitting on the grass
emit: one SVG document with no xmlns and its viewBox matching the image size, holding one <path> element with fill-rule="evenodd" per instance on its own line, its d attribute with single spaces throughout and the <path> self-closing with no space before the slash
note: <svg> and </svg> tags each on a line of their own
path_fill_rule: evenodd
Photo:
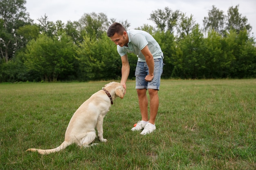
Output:
<svg viewBox="0 0 256 170">
<path fill-rule="evenodd" d="M 118 82 L 106 84 L 102 90 L 94 93 L 86 100 L 74 113 L 67 126 L 64 142 L 54 149 L 34 149 L 30 148 L 27 151 L 34 151 L 40 154 L 49 154 L 65 149 L 70 144 L 76 143 L 78 146 L 90 146 L 89 144 L 96 137 L 95 127 L 99 140 L 106 142 L 103 138 L 103 118 L 109 111 L 113 100 L 116 97 L 124 98 L 125 89 Z"/>
</svg>

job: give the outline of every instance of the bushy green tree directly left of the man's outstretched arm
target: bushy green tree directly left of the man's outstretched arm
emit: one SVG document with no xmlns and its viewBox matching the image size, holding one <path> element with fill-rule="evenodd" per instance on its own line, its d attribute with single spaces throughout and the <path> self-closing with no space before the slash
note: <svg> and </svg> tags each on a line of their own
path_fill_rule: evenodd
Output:
<svg viewBox="0 0 256 170">
<path fill-rule="evenodd" d="M 121 75 L 121 59 L 117 46 L 106 32 L 101 38 L 84 37 L 78 50 L 79 79 L 83 81 L 117 79 Z"/>
</svg>

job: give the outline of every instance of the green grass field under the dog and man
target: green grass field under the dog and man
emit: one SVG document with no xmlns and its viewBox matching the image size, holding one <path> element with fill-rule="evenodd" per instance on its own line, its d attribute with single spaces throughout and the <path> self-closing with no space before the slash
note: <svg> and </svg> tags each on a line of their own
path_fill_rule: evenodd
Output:
<svg viewBox="0 0 256 170">
<path fill-rule="evenodd" d="M 108 82 L 0 84 L 1 170 L 255 170 L 256 79 L 162 80 L 157 130 L 132 132 L 140 120 L 135 82 L 127 83 L 90 148 L 64 141 L 76 109 Z"/>
</svg>

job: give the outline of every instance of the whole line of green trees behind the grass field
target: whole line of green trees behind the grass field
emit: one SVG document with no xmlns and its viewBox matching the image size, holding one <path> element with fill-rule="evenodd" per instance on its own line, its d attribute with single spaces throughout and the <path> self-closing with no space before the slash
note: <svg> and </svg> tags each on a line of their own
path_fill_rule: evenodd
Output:
<svg viewBox="0 0 256 170">
<path fill-rule="evenodd" d="M 11 3 L 12 2 L 12 3 Z M 0 82 L 90 81 L 119 79 L 121 60 L 115 43 L 106 35 L 104 13 L 85 13 L 79 21 L 39 24 L 29 19 L 25 0 L 0 1 Z M 168 7 L 150 14 L 156 26 L 148 31 L 164 52 L 163 78 L 256 77 L 255 39 L 247 18 L 230 7 L 227 15 L 213 6 L 204 28 L 184 13 Z M 119 21 L 127 29 L 128 21 Z M 128 54 L 130 79 L 137 56 Z"/>
</svg>

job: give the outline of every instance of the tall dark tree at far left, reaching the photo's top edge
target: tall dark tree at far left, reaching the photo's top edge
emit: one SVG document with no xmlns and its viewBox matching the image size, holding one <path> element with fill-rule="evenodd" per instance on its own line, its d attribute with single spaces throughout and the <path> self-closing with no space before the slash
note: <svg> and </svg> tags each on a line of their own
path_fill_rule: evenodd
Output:
<svg viewBox="0 0 256 170">
<path fill-rule="evenodd" d="M 26 13 L 25 0 L 0 1 L 0 55 L 8 62 L 20 47 L 20 37 L 17 30 L 32 22 Z"/>
</svg>

